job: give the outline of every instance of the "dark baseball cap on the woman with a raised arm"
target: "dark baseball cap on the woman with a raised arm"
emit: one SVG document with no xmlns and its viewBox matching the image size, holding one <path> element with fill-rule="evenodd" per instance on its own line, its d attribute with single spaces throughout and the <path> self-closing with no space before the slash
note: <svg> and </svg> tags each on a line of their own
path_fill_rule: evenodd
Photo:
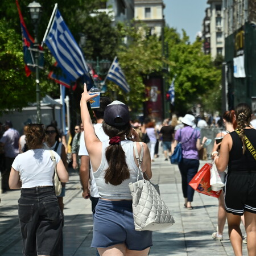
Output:
<svg viewBox="0 0 256 256">
<path fill-rule="evenodd" d="M 127 105 L 121 101 L 113 101 L 105 108 L 104 121 L 108 125 L 123 126 L 130 122 L 130 114 Z"/>
</svg>

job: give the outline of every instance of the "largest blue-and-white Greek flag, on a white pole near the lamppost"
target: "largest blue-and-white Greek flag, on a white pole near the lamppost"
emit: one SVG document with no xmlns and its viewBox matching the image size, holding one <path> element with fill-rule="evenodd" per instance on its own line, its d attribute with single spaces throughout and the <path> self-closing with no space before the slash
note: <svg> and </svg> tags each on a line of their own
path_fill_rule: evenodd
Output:
<svg viewBox="0 0 256 256">
<path fill-rule="evenodd" d="M 59 10 L 56 10 L 52 26 L 44 42 L 67 79 L 76 81 L 84 75 L 89 77 L 88 67 L 82 51 L 65 24 Z"/>
</svg>

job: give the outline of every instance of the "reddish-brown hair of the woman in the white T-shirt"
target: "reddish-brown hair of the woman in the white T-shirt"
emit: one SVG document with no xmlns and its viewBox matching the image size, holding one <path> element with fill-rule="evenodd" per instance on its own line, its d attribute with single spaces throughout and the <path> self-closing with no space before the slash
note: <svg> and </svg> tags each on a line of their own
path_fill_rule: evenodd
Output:
<svg viewBox="0 0 256 256">
<path fill-rule="evenodd" d="M 31 123 L 25 131 L 26 143 L 28 149 L 38 148 L 44 142 L 46 134 L 44 133 L 44 125 L 39 123 Z"/>
</svg>

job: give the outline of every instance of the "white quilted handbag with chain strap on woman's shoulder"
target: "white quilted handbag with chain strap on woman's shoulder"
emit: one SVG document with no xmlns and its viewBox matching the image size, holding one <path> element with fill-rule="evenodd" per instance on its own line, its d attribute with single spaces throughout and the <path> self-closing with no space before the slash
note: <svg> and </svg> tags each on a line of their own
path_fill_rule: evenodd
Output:
<svg viewBox="0 0 256 256">
<path fill-rule="evenodd" d="M 137 181 L 129 184 L 131 196 L 133 197 L 133 218 L 135 230 L 161 230 L 175 223 L 170 210 L 156 191 L 154 184 L 145 180 L 141 168 L 143 158 L 143 144 L 139 157 L 136 142 L 134 142 L 135 156 L 138 161 L 139 171 Z M 142 180 L 139 176 L 142 175 Z"/>
</svg>

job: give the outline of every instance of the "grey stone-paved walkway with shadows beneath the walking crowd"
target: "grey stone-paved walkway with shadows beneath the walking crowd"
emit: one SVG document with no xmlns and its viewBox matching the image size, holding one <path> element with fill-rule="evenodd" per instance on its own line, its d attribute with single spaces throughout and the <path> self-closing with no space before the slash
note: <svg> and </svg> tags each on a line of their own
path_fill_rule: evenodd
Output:
<svg viewBox="0 0 256 256">
<path fill-rule="evenodd" d="M 201 161 L 200 166 L 205 162 Z M 195 192 L 193 210 L 183 207 L 181 177 L 177 166 L 164 161 L 163 156 L 152 163 L 152 182 L 160 185 L 163 200 L 172 210 L 176 223 L 168 229 L 153 233 L 150 255 L 234 255 L 225 225 L 224 240 L 212 240 L 216 230 L 218 200 Z M 64 197 L 64 255 L 96 255 L 90 248 L 92 240 L 92 213 L 90 201 L 81 197 L 79 175 L 70 171 Z M 0 255 L 22 255 L 17 201 L 20 191 L 3 193 L 0 204 Z M 244 229 L 242 227 L 243 234 Z M 247 255 L 243 246 L 243 255 Z"/>
</svg>

